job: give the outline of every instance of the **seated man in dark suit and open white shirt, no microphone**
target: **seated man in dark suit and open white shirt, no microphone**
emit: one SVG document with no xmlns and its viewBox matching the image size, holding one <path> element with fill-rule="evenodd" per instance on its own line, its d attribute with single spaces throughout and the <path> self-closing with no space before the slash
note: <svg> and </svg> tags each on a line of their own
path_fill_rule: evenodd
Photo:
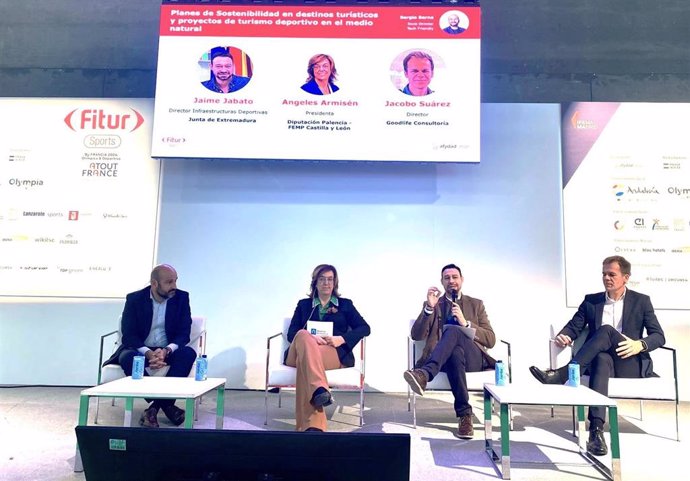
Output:
<svg viewBox="0 0 690 481">
<path fill-rule="evenodd" d="M 604 259 L 602 279 L 605 292 L 588 294 L 573 318 L 556 336 L 563 347 L 572 344 L 589 328 L 587 339 L 573 358 L 589 372 L 589 387 L 608 395 L 609 378 L 656 376 L 649 351 L 666 343 L 664 331 L 654 314 L 649 296 L 625 287 L 630 278 L 630 262 L 621 256 Z M 646 331 L 646 336 L 643 331 Z M 568 366 L 542 371 L 535 366 L 530 372 L 544 384 L 563 384 Z M 608 453 L 603 430 L 606 410 L 589 408 L 587 451 L 595 456 Z"/>
</svg>

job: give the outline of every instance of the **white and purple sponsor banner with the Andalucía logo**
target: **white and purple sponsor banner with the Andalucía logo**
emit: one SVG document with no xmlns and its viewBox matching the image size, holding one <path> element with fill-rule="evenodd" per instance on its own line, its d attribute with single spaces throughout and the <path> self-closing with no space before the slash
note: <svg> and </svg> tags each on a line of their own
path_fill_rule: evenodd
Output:
<svg viewBox="0 0 690 481">
<path fill-rule="evenodd" d="M 563 109 L 567 304 L 603 290 L 601 262 L 632 263 L 628 287 L 689 309 L 690 104 L 574 103 Z"/>
</svg>

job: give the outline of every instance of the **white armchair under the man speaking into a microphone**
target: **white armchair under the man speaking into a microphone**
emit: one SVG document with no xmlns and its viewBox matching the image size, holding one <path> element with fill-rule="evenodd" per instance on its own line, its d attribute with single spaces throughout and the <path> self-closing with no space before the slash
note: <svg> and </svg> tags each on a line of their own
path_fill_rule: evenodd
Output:
<svg viewBox="0 0 690 481">
<path fill-rule="evenodd" d="M 414 319 L 410 323 L 410 327 L 414 324 Z M 411 337 L 407 338 L 407 368 L 414 369 L 415 363 L 421 357 L 422 351 L 426 341 L 415 341 Z M 511 346 L 508 341 L 502 339 L 496 340 L 496 345 L 489 350 L 489 355 L 496 360 L 503 361 L 507 370 L 508 382 L 513 379 L 513 365 L 511 358 Z M 496 372 L 493 369 L 479 372 L 468 372 L 467 390 L 469 392 L 484 392 L 484 384 L 493 384 L 496 380 Z M 445 372 L 439 372 L 434 379 L 429 381 L 426 385 L 425 391 L 450 391 L 450 382 L 448 375 Z M 407 410 L 412 411 L 412 424 L 417 427 L 417 394 L 412 391 L 409 386 L 407 388 Z M 512 412 L 510 416 L 512 425 Z"/>
</svg>

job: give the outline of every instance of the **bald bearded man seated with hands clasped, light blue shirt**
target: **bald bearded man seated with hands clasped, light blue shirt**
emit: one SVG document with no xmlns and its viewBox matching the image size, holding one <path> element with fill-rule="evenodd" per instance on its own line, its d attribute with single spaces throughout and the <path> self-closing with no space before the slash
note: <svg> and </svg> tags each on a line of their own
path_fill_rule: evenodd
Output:
<svg viewBox="0 0 690 481">
<path fill-rule="evenodd" d="M 170 366 L 166 377 L 187 377 L 196 352 L 189 343 L 192 314 L 189 293 L 177 289 L 177 272 L 161 264 L 151 271 L 151 285 L 127 294 L 122 312 L 122 344 L 106 364 L 119 364 L 132 375 L 134 356 L 144 356 L 145 366 Z M 158 427 L 158 410 L 175 425 L 184 422 L 184 410 L 174 399 L 156 399 L 144 411 L 139 424 Z"/>
</svg>

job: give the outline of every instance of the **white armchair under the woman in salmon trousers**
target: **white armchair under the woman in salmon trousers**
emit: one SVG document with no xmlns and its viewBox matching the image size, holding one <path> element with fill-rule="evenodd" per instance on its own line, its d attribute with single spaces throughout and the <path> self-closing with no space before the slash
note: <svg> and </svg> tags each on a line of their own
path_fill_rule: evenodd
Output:
<svg viewBox="0 0 690 481">
<path fill-rule="evenodd" d="M 268 424 L 268 392 L 278 390 L 278 407 L 282 406 L 282 389 L 294 389 L 297 369 L 283 364 L 283 355 L 288 348 L 287 331 L 290 319 L 285 319 L 283 331 L 266 339 L 266 389 L 264 405 L 266 417 L 264 425 Z M 359 425 L 364 424 L 364 375 L 366 357 L 366 337 L 357 344 L 352 353 L 355 356 L 354 367 L 332 369 L 326 371 L 326 378 L 331 389 L 341 391 L 359 391 Z"/>
</svg>

